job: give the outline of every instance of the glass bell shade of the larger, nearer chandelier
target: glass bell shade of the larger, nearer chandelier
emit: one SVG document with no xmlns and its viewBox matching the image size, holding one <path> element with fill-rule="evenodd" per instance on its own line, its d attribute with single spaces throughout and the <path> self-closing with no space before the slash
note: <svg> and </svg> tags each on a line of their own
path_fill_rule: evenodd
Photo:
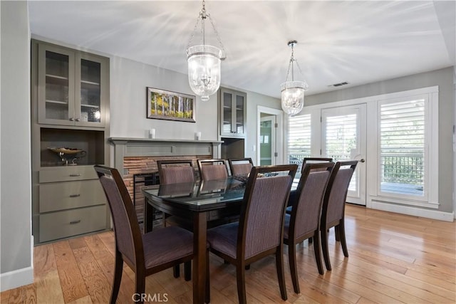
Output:
<svg viewBox="0 0 456 304">
<path fill-rule="evenodd" d="M 187 48 L 188 81 L 192 91 L 202 101 L 217 92 L 220 86 L 222 50 L 215 46 L 199 45 Z"/>
</svg>

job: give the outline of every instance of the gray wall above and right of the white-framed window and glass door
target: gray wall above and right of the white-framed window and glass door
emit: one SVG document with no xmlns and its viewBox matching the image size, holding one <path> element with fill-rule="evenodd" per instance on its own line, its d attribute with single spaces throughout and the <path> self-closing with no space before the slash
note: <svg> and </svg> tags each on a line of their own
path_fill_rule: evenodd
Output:
<svg viewBox="0 0 456 304">
<path fill-rule="evenodd" d="M 439 86 L 439 211 L 452 212 L 452 192 L 455 187 L 452 170 L 452 126 L 455 124 L 455 90 L 453 89 L 453 67 L 433 70 L 367 85 L 358 85 L 327 93 L 309 95 L 306 106 L 351 100 L 374 95 Z"/>
</svg>

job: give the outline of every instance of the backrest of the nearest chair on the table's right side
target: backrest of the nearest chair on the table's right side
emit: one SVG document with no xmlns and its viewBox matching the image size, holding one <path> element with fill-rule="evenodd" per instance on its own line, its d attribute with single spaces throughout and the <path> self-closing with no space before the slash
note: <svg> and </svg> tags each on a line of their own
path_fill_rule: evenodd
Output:
<svg viewBox="0 0 456 304">
<path fill-rule="evenodd" d="M 252 167 L 239 219 L 239 258 L 256 256 L 281 244 L 286 202 L 297 169 L 296 164 Z M 259 177 L 269 172 L 285 174 Z"/>
</svg>

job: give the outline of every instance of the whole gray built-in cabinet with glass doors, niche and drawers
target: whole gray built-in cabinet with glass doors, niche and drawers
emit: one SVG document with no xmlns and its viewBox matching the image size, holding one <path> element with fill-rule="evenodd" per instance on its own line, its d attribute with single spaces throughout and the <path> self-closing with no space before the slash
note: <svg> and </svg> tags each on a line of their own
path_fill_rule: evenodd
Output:
<svg viewBox="0 0 456 304">
<path fill-rule="evenodd" d="M 110 228 L 94 164 L 109 164 L 109 58 L 31 43 L 36 244 Z"/>
</svg>

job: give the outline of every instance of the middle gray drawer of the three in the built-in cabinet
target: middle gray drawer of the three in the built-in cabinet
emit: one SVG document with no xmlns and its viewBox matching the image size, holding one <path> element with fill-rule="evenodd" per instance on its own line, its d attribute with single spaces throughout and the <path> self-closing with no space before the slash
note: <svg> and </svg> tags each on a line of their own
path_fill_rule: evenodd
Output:
<svg viewBox="0 0 456 304">
<path fill-rule="evenodd" d="M 98 179 L 41 184 L 39 197 L 41 213 L 106 203 L 105 192 Z"/>
</svg>

